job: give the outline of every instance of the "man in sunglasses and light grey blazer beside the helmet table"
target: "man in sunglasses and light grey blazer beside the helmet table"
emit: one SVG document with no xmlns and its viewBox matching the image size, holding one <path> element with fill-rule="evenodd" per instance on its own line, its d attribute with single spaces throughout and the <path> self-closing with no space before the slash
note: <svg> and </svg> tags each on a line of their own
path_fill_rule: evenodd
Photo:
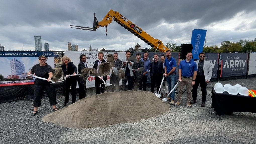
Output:
<svg viewBox="0 0 256 144">
<path fill-rule="evenodd" d="M 205 107 L 206 87 L 207 87 L 207 83 L 211 79 L 212 66 L 211 66 L 211 63 L 209 61 L 205 60 L 205 53 L 203 53 L 203 52 L 199 53 L 199 60 L 197 60 L 195 62 L 197 64 L 198 70 L 197 70 L 195 85 L 193 85 L 193 90 L 192 90 L 193 100 L 190 102 L 190 104 L 195 104 L 196 103 L 197 88 L 200 84 L 201 91 L 202 91 L 201 107 Z"/>
</svg>

